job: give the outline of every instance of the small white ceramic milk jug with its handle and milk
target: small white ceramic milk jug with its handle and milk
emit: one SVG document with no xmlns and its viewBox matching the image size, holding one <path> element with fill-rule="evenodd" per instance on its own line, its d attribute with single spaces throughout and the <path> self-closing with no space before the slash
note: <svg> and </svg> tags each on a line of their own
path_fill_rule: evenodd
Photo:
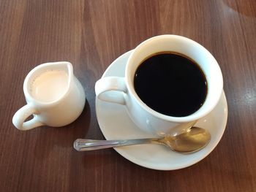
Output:
<svg viewBox="0 0 256 192">
<path fill-rule="evenodd" d="M 45 91 L 42 93 L 41 90 L 36 96 L 38 88 L 33 83 L 41 80 L 39 78 L 43 75 L 52 74 L 52 72 L 66 74 L 66 76 L 60 76 L 54 82 L 47 82 Z M 54 76 L 52 79 L 54 80 Z M 45 81 L 50 80 L 50 77 L 45 77 Z M 59 84 L 53 87 L 53 83 Z M 50 88 L 56 90 L 50 90 Z M 24 80 L 23 92 L 27 104 L 12 118 L 15 127 L 22 131 L 43 125 L 59 127 L 72 123 L 83 111 L 86 101 L 83 87 L 73 74 L 72 64 L 66 61 L 41 64 L 32 69 Z M 54 98 L 50 98 L 51 96 Z M 26 121 L 30 115 L 34 117 Z"/>
</svg>

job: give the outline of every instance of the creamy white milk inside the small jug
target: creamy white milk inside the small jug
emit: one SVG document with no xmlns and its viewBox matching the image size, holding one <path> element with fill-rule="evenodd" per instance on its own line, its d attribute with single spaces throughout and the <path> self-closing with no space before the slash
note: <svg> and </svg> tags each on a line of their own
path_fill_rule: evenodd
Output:
<svg viewBox="0 0 256 192">
<path fill-rule="evenodd" d="M 63 96 L 68 86 L 67 72 L 53 70 L 36 77 L 31 82 L 30 93 L 38 101 L 52 102 Z"/>
</svg>

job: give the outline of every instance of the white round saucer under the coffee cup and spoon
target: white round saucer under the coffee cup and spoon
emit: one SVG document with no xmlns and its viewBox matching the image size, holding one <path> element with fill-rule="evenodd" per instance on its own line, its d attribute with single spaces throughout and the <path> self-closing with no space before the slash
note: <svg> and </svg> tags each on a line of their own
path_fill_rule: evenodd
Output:
<svg viewBox="0 0 256 192">
<path fill-rule="evenodd" d="M 124 53 L 113 61 L 102 77 L 124 77 L 124 70 L 131 51 Z M 126 108 L 96 99 L 96 113 L 99 127 L 106 139 L 135 139 L 151 137 L 135 126 L 127 115 Z M 206 128 L 211 134 L 211 141 L 203 150 L 192 154 L 181 154 L 171 151 L 162 145 L 133 145 L 116 147 L 115 150 L 124 158 L 140 166 L 150 169 L 174 170 L 181 169 L 205 158 L 217 146 L 227 123 L 227 100 L 223 91 L 219 104 L 196 126 Z"/>
</svg>

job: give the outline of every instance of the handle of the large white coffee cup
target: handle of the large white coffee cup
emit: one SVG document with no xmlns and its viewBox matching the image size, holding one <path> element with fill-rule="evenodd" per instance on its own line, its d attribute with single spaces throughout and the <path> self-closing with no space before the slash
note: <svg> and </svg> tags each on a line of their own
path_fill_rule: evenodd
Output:
<svg viewBox="0 0 256 192">
<path fill-rule="evenodd" d="M 124 77 L 103 77 L 95 84 L 97 98 L 116 104 L 126 104 L 127 85 Z"/>
</svg>

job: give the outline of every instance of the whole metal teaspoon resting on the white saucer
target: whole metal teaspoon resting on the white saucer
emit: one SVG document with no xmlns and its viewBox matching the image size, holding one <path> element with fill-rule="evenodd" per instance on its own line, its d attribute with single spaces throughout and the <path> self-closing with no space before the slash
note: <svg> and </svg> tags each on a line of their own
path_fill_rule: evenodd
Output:
<svg viewBox="0 0 256 192">
<path fill-rule="evenodd" d="M 121 147 L 128 145 L 161 144 L 170 147 L 171 150 L 180 153 L 193 153 L 206 147 L 211 135 L 206 129 L 199 127 L 189 128 L 187 132 L 176 136 L 165 136 L 161 138 L 124 139 L 124 140 L 93 140 L 76 139 L 74 148 L 78 151 L 100 150 L 110 147 Z"/>
</svg>

